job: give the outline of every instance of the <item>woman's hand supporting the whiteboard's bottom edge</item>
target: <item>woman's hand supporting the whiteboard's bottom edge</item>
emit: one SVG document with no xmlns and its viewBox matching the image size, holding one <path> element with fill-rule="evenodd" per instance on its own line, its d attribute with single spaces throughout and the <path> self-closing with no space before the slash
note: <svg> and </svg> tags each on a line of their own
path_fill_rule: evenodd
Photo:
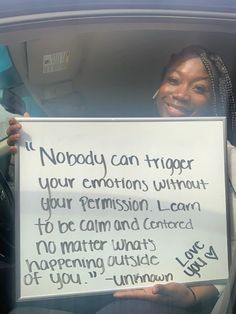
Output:
<svg viewBox="0 0 236 314">
<path fill-rule="evenodd" d="M 188 307 L 196 303 L 192 291 L 184 284 L 158 284 L 138 290 L 123 290 L 113 294 L 115 298 L 139 298 L 149 301 L 169 303 L 176 306 Z"/>
</svg>

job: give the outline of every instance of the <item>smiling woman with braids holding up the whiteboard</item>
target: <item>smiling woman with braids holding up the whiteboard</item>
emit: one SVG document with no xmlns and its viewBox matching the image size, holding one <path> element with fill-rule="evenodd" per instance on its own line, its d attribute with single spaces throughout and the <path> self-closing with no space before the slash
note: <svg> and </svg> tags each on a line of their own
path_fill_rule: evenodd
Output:
<svg viewBox="0 0 236 314">
<path fill-rule="evenodd" d="M 154 100 L 160 117 L 226 115 L 229 140 L 235 144 L 236 107 L 231 80 L 219 56 L 198 46 L 187 47 L 173 55 L 163 71 Z M 16 152 L 14 143 L 19 139 L 21 125 L 14 118 L 10 119 L 9 124 L 8 144 L 10 151 Z M 168 283 L 152 288 L 118 291 L 114 297 L 120 301 L 109 304 L 97 313 L 193 313 L 204 302 L 214 303 L 219 289 L 213 285 L 188 287 Z"/>
</svg>

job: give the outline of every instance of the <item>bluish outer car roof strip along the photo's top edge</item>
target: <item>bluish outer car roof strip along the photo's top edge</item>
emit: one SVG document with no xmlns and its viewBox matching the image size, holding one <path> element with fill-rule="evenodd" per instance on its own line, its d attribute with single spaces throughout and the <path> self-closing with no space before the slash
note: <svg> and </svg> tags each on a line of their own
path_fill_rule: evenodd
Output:
<svg viewBox="0 0 236 314">
<path fill-rule="evenodd" d="M 236 11 L 236 3 L 235 0 L 1 0 L 0 18 L 48 12 L 104 9 L 173 9 L 232 12 Z"/>
</svg>

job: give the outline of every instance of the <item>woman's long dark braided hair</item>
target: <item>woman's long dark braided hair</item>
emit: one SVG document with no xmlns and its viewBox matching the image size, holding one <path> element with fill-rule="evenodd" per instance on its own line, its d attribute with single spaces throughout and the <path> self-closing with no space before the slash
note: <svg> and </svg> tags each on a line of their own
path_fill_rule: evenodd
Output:
<svg viewBox="0 0 236 314">
<path fill-rule="evenodd" d="M 222 58 L 200 46 L 189 46 L 179 53 L 173 54 L 164 68 L 162 80 L 166 72 L 177 61 L 198 57 L 201 59 L 210 79 L 211 84 L 211 112 L 214 116 L 226 116 L 228 137 L 236 145 L 236 104 L 234 101 L 232 82 L 226 65 Z"/>
</svg>

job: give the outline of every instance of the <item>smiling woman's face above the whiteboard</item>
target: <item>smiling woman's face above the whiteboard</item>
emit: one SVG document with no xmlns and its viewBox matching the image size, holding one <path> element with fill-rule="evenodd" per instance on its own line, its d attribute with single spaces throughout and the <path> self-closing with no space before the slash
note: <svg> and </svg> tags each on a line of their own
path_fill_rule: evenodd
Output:
<svg viewBox="0 0 236 314">
<path fill-rule="evenodd" d="M 161 117 L 208 116 L 211 85 L 198 57 L 177 61 L 167 70 L 156 96 Z"/>
</svg>

